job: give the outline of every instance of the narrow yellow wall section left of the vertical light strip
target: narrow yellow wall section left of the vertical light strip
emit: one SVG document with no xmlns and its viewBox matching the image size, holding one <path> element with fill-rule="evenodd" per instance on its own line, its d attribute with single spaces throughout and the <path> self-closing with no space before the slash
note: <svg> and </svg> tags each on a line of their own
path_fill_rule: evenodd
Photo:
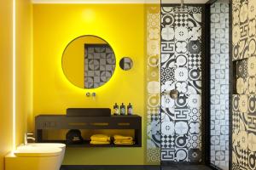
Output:
<svg viewBox="0 0 256 170">
<path fill-rule="evenodd" d="M 12 149 L 12 1 L 0 0 L 0 170 Z"/>
</svg>

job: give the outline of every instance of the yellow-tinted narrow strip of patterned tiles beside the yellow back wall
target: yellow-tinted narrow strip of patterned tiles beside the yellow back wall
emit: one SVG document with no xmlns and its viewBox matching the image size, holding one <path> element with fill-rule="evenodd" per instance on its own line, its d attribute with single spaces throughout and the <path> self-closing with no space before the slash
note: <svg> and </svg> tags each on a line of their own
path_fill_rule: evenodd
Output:
<svg viewBox="0 0 256 170">
<path fill-rule="evenodd" d="M 160 3 L 147 4 L 147 162 L 160 164 Z"/>
</svg>

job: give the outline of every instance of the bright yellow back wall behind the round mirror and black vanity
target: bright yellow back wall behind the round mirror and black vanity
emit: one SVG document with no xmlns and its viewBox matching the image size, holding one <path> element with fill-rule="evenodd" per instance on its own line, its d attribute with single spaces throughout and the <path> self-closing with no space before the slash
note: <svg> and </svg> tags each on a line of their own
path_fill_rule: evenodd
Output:
<svg viewBox="0 0 256 170">
<path fill-rule="evenodd" d="M 34 4 L 33 5 L 33 112 L 65 114 L 68 107 L 110 107 L 131 102 L 143 116 L 142 148 L 70 148 L 64 164 L 144 164 L 144 6 L 143 4 Z M 117 58 L 113 77 L 101 88 L 84 90 L 67 81 L 61 55 L 68 42 L 82 35 L 102 37 Z M 133 59 L 131 71 L 119 60 Z M 96 99 L 85 97 L 96 92 Z"/>
</svg>

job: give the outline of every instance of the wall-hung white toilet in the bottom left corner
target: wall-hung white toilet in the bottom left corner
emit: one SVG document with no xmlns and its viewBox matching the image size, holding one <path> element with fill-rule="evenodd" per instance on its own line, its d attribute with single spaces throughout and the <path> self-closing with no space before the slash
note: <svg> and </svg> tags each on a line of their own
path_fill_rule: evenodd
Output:
<svg viewBox="0 0 256 170">
<path fill-rule="evenodd" d="M 5 170 L 59 170 L 65 144 L 21 145 L 5 156 Z"/>
</svg>

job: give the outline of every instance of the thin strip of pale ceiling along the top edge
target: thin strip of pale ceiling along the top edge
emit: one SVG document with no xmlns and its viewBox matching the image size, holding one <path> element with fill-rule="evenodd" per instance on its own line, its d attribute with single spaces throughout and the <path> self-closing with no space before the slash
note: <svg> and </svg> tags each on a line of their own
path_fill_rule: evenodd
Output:
<svg viewBox="0 0 256 170">
<path fill-rule="evenodd" d="M 208 0 L 184 0 L 184 3 L 207 3 Z M 160 0 L 32 0 L 32 3 L 160 3 Z M 180 0 L 162 0 L 162 3 L 181 3 Z"/>
</svg>

